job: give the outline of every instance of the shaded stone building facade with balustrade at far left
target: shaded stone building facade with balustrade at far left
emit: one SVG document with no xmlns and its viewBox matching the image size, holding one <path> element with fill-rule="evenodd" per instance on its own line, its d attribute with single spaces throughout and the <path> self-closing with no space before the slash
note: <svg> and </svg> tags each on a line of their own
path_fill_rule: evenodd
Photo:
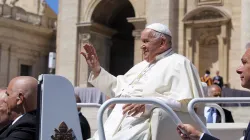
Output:
<svg viewBox="0 0 250 140">
<path fill-rule="evenodd" d="M 0 86 L 16 76 L 48 72 L 55 51 L 56 14 L 41 0 L 0 1 Z"/>
</svg>

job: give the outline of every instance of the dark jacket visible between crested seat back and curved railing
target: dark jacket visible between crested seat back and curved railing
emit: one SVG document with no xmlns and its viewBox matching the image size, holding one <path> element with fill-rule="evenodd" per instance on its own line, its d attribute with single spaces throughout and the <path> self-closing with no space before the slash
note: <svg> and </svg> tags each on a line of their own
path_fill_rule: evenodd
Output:
<svg viewBox="0 0 250 140">
<path fill-rule="evenodd" d="M 79 120 L 82 129 L 82 139 L 86 140 L 90 138 L 91 135 L 89 123 L 87 119 L 82 115 L 82 113 L 79 113 Z"/>
</svg>

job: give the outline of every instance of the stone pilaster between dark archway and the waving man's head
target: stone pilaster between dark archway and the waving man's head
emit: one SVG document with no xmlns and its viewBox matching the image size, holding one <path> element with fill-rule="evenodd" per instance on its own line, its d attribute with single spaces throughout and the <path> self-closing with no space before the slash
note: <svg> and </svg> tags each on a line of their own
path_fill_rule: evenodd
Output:
<svg viewBox="0 0 250 140">
<path fill-rule="evenodd" d="M 143 54 L 141 50 L 141 32 L 144 30 L 146 25 L 145 18 L 127 18 L 129 23 L 132 23 L 135 27 L 132 35 L 134 36 L 134 65 L 143 60 Z"/>
</svg>

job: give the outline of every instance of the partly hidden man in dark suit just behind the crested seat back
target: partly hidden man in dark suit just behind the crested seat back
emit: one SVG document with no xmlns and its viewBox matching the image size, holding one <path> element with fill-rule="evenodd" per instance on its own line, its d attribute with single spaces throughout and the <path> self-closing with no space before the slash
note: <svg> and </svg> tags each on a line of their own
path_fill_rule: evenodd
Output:
<svg viewBox="0 0 250 140">
<path fill-rule="evenodd" d="M 78 95 L 75 95 L 75 97 L 76 97 L 76 102 L 81 103 L 80 97 Z M 87 119 L 82 115 L 80 107 L 78 108 L 78 115 L 79 115 L 81 130 L 82 130 L 82 139 L 86 140 L 90 138 L 91 136 L 90 126 L 89 126 Z"/>
</svg>

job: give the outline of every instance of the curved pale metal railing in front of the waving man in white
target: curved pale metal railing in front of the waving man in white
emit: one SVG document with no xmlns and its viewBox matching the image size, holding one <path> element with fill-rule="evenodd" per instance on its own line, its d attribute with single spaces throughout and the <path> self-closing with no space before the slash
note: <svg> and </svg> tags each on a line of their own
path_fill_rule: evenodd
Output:
<svg viewBox="0 0 250 140">
<path fill-rule="evenodd" d="M 98 133 L 99 133 L 99 139 L 100 140 L 106 140 L 105 132 L 104 132 L 104 126 L 103 126 L 103 113 L 105 109 L 111 105 L 111 104 L 119 104 L 119 103 L 138 103 L 138 104 L 155 104 L 158 107 L 162 108 L 166 112 L 169 113 L 169 116 L 174 121 L 175 124 L 182 124 L 179 117 L 175 114 L 175 112 L 170 108 L 166 103 L 159 99 L 152 99 L 152 98 L 113 98 L 109 99 L 106 102 L 104 102 L 101 106 L 101 108 L 98 110 Z"/>
</svg>

